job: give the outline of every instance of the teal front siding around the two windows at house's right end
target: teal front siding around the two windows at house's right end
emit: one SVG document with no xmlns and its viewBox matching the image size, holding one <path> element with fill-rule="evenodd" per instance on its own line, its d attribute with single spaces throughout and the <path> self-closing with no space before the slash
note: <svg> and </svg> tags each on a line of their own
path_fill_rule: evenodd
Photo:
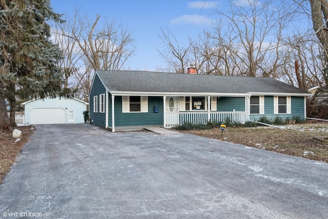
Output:
<svg viewBox="0 0 328 219">
<path fill-rule="evenodd" d="M 276 116 L 283 119 L 291 116 L 300 116 L 304 118 L 304 97 L 303 96 L 292 96 L 291 97 L 291 114 L 274 114 L 274 101 L 273 96 L 264 96 L 264 115 L 251 114 L 250 120 L 257 121 L 261 116 L 273 120 Z"/>
</svg>

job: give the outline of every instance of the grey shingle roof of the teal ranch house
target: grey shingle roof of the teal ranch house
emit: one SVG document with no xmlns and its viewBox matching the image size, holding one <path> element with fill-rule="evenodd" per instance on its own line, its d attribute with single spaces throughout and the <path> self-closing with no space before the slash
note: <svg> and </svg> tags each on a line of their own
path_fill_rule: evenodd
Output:
<svg viewBox="0 0 328 219">
<path fill-rule="evenodd" d="M 273 78 L 149 71 L 96 70 L 110 92 L 151 93 L 283 93 L 310 95 L 309 92 Z"/>
</svg>

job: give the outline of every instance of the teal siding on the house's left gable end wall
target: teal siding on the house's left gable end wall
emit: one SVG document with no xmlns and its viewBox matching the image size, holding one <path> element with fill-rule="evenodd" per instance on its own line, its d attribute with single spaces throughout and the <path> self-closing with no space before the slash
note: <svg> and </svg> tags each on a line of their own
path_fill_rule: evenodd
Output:
<svg viewBox="0 0 328 219">
<path fill-rule="evenodd" d="M 106 89 L 103 85 L 103 83 L 100 82 L 100 79 L 98 75 L 95 75 L 92 89 L 90 91 L 89 96 L 89 117 L 91 124 L 105 127 L 106 126 L 106 114 L 105 113 L 99 113 L 99 94 L 106 94 Z M 98 112 L 93 112 L 93 97 L 98 96 Z M 106 96 L 105 96 L 105 106 L 106 106 Z M 106 111 L 106 109 L 105 109 Z"/>
</svg>

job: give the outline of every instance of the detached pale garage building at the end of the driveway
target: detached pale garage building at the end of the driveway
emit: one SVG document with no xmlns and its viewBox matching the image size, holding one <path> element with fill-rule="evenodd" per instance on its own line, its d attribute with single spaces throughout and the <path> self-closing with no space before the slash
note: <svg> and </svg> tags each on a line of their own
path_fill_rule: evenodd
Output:
<svg viewBox="0 0 328 219">
<path fill-rule="evenodd" d="M 83 112 L 87 110 L 86 102 L 76 98 L 32 99 L 25 105 L 25 124 L 68 124 L 84 123 Z"/>
</svg>

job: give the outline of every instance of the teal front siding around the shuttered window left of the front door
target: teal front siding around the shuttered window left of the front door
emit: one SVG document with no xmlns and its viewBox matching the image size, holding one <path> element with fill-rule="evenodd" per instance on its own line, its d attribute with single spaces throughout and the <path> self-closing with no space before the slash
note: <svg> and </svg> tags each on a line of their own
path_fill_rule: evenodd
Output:
<svg viewBox="0 0 328 219">
<path fill-rule="evenodd" d="M 111 103 L 109 103 L 109 124 L 112 126 Z M 154 106 L 158 106 L 158 113 L 154 112 Z M 148 112 L 122 113 L 122 97 L 115 96 L 115 127 L 118 126 L 147 126 L 163 125 L 163 97 L 148 97 Z"/>
</svg>

